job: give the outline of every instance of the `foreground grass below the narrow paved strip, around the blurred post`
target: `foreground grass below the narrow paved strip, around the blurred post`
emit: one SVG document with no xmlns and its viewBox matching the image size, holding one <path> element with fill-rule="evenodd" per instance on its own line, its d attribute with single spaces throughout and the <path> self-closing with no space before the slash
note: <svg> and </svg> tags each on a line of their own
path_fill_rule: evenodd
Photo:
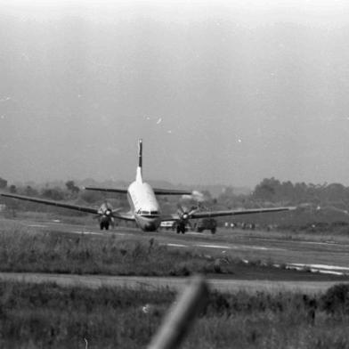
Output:
<svg viewBox="0 0 349 349">
<path fill-rule="evenodd" d="M 174 300 L 168 289 L 0 282 L 0 347 L 144 348 Z M 348 324 L 345 286 L 312 297 L 215 292 L 183 348 L 346 348 Z"/>
</svg>

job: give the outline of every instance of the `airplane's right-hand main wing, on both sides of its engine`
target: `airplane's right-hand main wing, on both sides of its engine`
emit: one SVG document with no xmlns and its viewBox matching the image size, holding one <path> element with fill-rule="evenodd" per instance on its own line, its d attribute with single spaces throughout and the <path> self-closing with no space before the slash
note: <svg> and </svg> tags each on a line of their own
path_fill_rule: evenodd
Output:
<svg viewBox="0 0 349 349">
<path fill-rule="evenodd" d="M 225 215 L 252 215 L 252 214 L 267 214 L 272 212 L 292 211 L 296 207 L 270 207 L 270 208 L 248 208 L 248 209 L 236 209 L 226 211 L 206 211 L 196 212 L 189 215 L 189 219 L 199 219 L 208 217 L 222 217 Z M 161 221 L 179 221 L 180 215 L 161 215 Z"/>
</svg>

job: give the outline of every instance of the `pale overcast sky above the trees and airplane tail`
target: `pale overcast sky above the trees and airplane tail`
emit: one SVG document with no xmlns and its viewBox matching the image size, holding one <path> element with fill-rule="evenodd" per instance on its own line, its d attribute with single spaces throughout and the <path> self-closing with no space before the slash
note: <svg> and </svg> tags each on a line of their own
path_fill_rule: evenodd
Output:
<svg viewBox="0 0 349 349">
<path fill-rule="evenodd" d="M 0 0 L 0 177 L 349 185 L 349 4 Z"/>
</svg>

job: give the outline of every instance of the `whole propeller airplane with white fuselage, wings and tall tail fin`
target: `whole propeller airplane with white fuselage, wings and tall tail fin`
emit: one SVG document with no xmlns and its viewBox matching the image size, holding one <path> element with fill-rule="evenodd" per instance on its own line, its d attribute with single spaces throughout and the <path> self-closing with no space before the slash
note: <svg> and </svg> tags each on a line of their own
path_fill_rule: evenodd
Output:
<svg viewBox="0 0 349 349">
<path fill-rule="evenodd" d="M 161 222 L 173 221 L 176 223 L 177 233 L 184 233 L 185 226 L 191 219 L 199 219 L 206 217 L 219 217 L 227 215 L 250 215 L 256 213 L 271 213 L 294 210 L 296 207 L 268 207 L 268 208 L 252 208 L 252 209 L 237 209 L 223 211 L 205 211 L 198 212 L 198 208 L 190 211 L 179 210 L 173 215 L 161 214 L 160 207 L 156 195 L 193 195 L 193 191 L 181 191 L 171 189 L 152 188 L 149 183 L 143 181 L 142 176 L 142 139 L 138 141 L 138 166 L 136 169 L 135 181 L 131 183 L 127 189 L 116 188 L 95 188 L 85 187 L 86 191 L 105 191 L 125 193 L 129 205 L 131 207 L 128 212 L 121 212 L 121 208 L 112 209 L 110 206 L 102 205 L 99 209 L 93 207 L 83 207 L 72 204 L 61 203 L 53 200 L 37 199 L 28 196 L 2 193 L 1 195 L 7 198 L 22 199 L 52 205 L 55 207 L 64 207 L 74 209 L 81 212 L 95 214 L 100 220 L 100 228 L 108 230 L 114 218 L 133 221 L 142 231 L 157 231 Z"/>
</svg>

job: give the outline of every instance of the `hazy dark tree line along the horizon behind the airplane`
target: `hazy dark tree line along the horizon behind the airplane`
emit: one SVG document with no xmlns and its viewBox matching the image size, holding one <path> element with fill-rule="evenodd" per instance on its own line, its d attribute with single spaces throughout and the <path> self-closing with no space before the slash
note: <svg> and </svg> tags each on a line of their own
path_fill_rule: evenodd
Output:
<svg viewBox="0 0 349 349">
<path fill-rule="evenodd" d="M 74 181 L 67 181 L 64 187 L 45 187 L 37 189 L 30 185 L 17 187 L 14 184 L 8 185 L 8 181 L 0 177 L 0 190 L 10 191 L 20 195 L 27 195 L 43 199 L 53 200 L 77 200 L 89 204 L 95 204 L 102 199 L 110 197 L 105 193 L 98 191 L 80 191 L 80 188 Z M 314 205 L 332 205 L 341 209 L 349 208 L 349 187 L 340 183 L 292 183 L 290 181 L 280 182 L 272 178 L 264 178 L 258 183 L 249 194 L 235 194 L 233 187 L 227 187 L 216 198 L 213 198 L 209 191 L 203 191 L 205 201 L 204 205 L 210 207 L 256 207 L 256 205 L 299 205 L 310 203 Z M 120 201 L 120 204 L 126 202 L 125 196 L 111 194 L 112 198 Z M 172 204 L 175 198 L 159 198 L 160 202 Z"/>
</svg>

